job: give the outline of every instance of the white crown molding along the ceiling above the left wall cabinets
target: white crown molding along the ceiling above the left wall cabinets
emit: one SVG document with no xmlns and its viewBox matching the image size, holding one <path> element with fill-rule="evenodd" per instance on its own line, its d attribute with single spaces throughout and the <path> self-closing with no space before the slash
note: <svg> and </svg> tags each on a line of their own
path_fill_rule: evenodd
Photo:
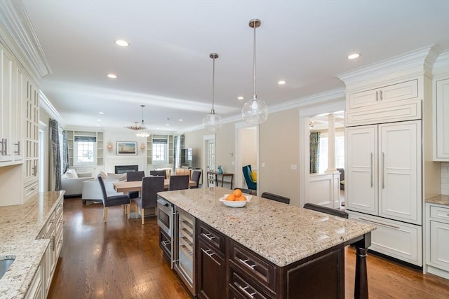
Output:
<svg viewBox="0 0 449 299">
<path fill-rule="evenodd" d="M 22 1 L 0 1 L 2 41 L 35 78 L 52 74 Z"/>
</svg>

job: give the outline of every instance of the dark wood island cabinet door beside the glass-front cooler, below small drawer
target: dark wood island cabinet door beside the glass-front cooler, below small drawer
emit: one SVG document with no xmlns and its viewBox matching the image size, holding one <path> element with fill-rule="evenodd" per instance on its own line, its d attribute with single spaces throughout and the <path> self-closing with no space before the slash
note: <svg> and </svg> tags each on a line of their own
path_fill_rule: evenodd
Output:
<svg viewBox="0 0 449 299">
<path fill-rule="evenodd" d="M 212 246 L 199 239 L 196 289 L 199 298 L 226 298 L 225 258 Z"/>
</svg>

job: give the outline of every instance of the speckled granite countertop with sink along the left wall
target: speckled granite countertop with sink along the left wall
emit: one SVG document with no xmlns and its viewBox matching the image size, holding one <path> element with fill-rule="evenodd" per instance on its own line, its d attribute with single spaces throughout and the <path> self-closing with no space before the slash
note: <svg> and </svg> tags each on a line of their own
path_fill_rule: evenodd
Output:
<svg viewBox="0 0 449 299">
<path fill-rule="evenodd" d="M 0 207 L 0 259 L 15 257 L 0 279 L 0 298 L 24 298 L 50 239 L 36 239 L 64 191 L 39 193 L 25 204 Z"/>
</svg>

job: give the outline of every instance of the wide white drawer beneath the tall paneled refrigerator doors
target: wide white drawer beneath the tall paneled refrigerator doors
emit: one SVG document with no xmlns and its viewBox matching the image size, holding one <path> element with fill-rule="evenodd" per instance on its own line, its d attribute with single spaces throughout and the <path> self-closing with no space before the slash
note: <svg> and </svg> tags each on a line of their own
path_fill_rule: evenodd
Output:
<svg viewBox="0 0 449 299">
<path fill-rule="evenodd" d="M 422 266 L 422 227 L 385 218 L 349 212 L 349 218 L 376 225 L 370 250 Z"/>
</svg>

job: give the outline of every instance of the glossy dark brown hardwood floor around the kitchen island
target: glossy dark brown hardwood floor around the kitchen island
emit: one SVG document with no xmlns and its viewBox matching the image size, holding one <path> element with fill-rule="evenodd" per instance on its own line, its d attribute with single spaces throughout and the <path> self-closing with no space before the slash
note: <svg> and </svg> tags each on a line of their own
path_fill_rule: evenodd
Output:
<svg viewBox="0 0 449 299">
<path fill-rule="evenodd" d="M 131 208 L 134 211 L 134 207 Z M 122 207 L 65 200 L 64 244 L 48 298 L 189 298 L 162 258 L 156 218 L 126 219 Z M 346 298 L 354 298 L 355 251 L 346 249 Z M 449 280 L 368 255 L 370 298 L 449 298 Z"/>
</svg>

